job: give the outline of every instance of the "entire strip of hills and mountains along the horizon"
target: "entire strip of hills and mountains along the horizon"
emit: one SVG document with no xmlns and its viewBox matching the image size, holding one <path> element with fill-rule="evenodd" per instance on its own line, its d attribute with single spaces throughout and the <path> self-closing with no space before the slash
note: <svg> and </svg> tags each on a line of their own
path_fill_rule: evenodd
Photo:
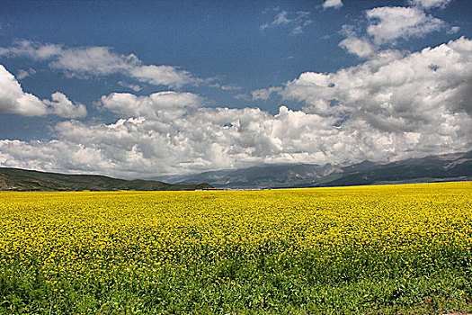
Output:
<svg viewBox="0 0 472 315">
<path fill-rule="evenodd" d="M 103 175 L 66 175 L 0 167 L 0 190 L 7 191 L 254 189 L 457 180 L 472 180 L 472 151 L 409 158 L 386 164 L 372 161 L 324 166 L 272 164 L 192 175 L 167 175 L 155 180 L 124 180 Z"/>
</svg>

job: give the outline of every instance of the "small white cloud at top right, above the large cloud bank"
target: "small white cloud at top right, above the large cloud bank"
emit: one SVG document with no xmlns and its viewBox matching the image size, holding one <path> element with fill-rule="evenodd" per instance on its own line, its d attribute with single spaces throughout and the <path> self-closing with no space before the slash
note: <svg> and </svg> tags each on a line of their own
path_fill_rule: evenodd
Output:
<svg viewBox="0 0 472 315">
<path fill-rule="evenodd" d="M 440 19 L 416 7 L 383 6 L 368 10 L 366 15 L 370 20 L 367 33 L 377 44 L 395 42 L 399 38 L 422 37 L 446 26 Z"/>
</svg>

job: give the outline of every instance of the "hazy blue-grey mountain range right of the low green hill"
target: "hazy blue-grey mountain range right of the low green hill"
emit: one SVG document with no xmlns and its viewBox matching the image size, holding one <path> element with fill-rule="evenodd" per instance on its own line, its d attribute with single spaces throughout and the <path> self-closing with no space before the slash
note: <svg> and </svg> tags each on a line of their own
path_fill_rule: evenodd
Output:
<svg viewBox="0 0 472 315">
<path fill-rule="evenodd" d="M 218 188 L 273 188 L 472 180 L 472 151 L 350 166 L 286 164 L 159 177 L 174 184 L 206 182 Z"/>
</svg>

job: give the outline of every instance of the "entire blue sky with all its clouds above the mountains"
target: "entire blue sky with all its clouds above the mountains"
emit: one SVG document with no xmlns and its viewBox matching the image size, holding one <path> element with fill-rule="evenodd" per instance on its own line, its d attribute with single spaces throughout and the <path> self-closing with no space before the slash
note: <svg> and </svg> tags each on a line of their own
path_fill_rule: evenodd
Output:
<svg viewBox="0 0 472 315">
<path fill-rule="evenodd" d="M 472 146 L 468 0 L 0 6 L 0 166 L 148 178 Z"/>
</svg>

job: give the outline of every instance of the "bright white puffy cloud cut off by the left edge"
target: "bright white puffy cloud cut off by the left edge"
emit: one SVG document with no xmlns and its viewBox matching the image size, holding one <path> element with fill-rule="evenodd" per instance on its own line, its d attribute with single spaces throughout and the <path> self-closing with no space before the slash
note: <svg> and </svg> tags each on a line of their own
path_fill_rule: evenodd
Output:
<svg viewBox="0 0 472 315">
<path fill-rule="evenodd" d="M 27 117 L 52 113 L 64 118 L 85 117 L 87 114 L 83 104 L 72 103 L 62 93 L 52 94 L 51 99 L 41 101 L 37 96 L 23 92 L 22 85 L 0 65 L 0 113 Z"/>
</svg>

